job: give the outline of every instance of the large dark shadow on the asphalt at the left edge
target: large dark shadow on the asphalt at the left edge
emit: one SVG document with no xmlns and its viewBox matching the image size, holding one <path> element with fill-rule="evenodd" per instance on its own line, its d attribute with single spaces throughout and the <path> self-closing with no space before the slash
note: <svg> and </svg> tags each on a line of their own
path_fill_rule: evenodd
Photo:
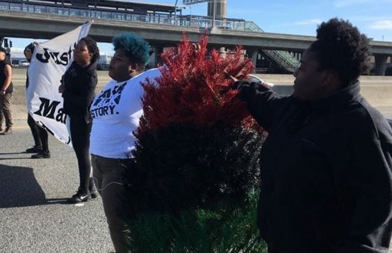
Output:
<svg viewBox="0 0 392 253">
<path fill-rule="evenodd" d="M 48 204 L 33 169 L 0 164 L 0 208 Z"/>
</svg>

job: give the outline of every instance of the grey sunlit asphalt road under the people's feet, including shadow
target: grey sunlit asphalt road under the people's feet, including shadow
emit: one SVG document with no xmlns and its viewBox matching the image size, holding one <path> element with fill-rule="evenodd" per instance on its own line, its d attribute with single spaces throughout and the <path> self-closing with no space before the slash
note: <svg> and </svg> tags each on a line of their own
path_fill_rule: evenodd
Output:
<svg viewBox="0 0 392 253">
<path fill-rule="evenodd" d="M 71 147 L 49 136 L 51 158 L 31 159 L 25 121 L 0 136 L 0 252 L 113 252 L 101 198 L 66 204 L 79 186 Z"/>
</svg>

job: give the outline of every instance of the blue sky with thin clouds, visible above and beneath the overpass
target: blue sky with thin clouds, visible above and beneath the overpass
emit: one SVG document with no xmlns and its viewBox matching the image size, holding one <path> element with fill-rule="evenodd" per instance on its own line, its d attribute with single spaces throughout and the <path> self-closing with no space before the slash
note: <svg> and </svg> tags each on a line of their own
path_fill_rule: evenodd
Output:
<svg viewBox="0 0 392 253">
<path fill-rule="evenodd" d="M 136 0 L 169 3 L 176 0 Z M 178 0 L 178 5 L 182 5 Z M 197 3 L 183 15 L 206 15 L 207 3 Z M 317 25 L 332 17 L 348 19 L 373 40 L 392 42 L 392 0 L 227 0 L 227 17 L 256 23 L 268 33 L 316 35 Z M 13 47 L 24 48 L 33 39 L 10 38 Z M 44 40 L 39 40 L 43 42 Z M 111 44 L 99 43 L 102 52 L 113 54 Z"/>
</svg>

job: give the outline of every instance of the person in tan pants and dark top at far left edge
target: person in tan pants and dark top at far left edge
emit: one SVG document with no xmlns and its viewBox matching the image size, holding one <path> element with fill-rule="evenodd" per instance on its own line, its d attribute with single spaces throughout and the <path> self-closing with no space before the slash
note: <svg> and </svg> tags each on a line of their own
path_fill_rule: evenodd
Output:
<svg viewBox="0 0 392 253">
<path fill-rule="evenodd" d="M 6 49 L 0 47 L 0 131 L 3 131 L 3 122 L 6 129 L 1 133 L 7 135 L 13 132 L 13 117 L 11 115 L 11 99 L 13 97 L 13 69 L 6 59 Z"/>
</svg>

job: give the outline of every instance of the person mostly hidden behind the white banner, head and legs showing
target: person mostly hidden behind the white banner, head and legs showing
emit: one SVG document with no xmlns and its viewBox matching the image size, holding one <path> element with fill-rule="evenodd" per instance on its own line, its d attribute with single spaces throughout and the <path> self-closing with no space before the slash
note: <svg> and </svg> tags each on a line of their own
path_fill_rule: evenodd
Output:
<svg viewBox="0 0 392 253">
<path fill-rule="evenodd" d="M 24 56 L 28 63 L 31 63 L 33 57 L 35 44 L 30 43 L 24 48 Z M 26 89 L 28 88 L 28 74 L 26 75 Z M 33 134 L 34 147 L 26 149 L 26 153 L 37 153 L 33 154 L 31 158 L 50 158 L 49 144 L 48 144 L 48 132 L 38 125 L 30 113 L 27 115 L 27 124 L 30 126 L 31 133 Z"/>
</svg>

